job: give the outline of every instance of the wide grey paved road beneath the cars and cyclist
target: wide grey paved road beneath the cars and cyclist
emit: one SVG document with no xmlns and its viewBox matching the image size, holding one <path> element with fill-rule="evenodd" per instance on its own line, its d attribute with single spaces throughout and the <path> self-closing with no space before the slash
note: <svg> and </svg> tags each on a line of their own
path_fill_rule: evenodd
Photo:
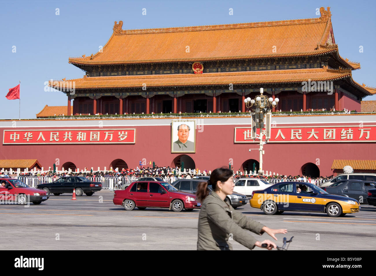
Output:
<svg viewBox="0 0 376 276">
<path fill-rule="evenodd" d="M 29 207 L 1 205 L 0 231 L 7 243 L 0 249 L 14 250 L 195 250 L 199 210 L 175 213 L 149 208 L 125 211 L 112 203 L 114 193 L 101 191 L 93 196 L 51 196 Z M 270 228 L 287 228 L 294 236 L 290 249 L 363 250 L 374 249 L 376 207 L 362 205 L 355 215 L 341 218 L 320 213 L 285 212 L 267 216 L 245 205 L 238 209 Z M 244 230 L 246 231 L 246 230 Z M 250 233 L 250 235 L 257 235 Z M 284 236 L 277 234 L 278 245 Z M 259 240 L 270 238 L 268 235 Z M 234 250 L 246 247 L 232 241 Z M 256 248 L 255 250 L 262 250 Z"/>
</svg>

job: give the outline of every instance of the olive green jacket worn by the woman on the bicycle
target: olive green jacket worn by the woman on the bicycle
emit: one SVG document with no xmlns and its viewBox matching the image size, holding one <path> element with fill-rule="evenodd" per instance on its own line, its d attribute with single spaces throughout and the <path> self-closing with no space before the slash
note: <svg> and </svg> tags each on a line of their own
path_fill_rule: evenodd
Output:
<svg viewBox="0 0 376 276">
<path fill-rule="evenodd" d="M 243 229 L 262 235 L 264 226 L 235 211 L 227 199 L 223 201 L 217 193 L 212 192 L 202 202 L 197 250 L 231 250 L 232 246 L 227 242 L 229 237 L 253 249 L 257 240 Z"/>
</svg>

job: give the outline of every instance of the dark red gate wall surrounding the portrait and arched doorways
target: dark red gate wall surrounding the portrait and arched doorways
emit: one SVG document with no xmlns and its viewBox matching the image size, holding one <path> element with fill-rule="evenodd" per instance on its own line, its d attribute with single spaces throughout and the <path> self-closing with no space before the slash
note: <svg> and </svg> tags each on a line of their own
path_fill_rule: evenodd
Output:
<svg viewBox="0 0 376 276">
<path fill-rule="evenodd" d="M 234 143 L 235 127 L 239 125 L 205 125 L 202 127 L 202 132 L 196 130 L 196 153 L 187 154 L 193 158 L 196 168 L 203 171 L 220 166 L 228 167 L 229 159 L 232 158 L 233 168 L 237 170 L 247 159 L 259 160 L 258 150 L 249 152 L 250 148 L 258 148 L 257 143 Z M 68 128 L 72 129 L 72 127 Z M 111 162 L 117 158 L 126 161 L 129 168 L 135 168 L 143 158 L 146 158 L 147 164 L 149 161 L 152 163 L 155 161 L 157 166 L 171 166 L 174 158 L 181 155 L 171 154 L 170 126 L 136 126 L 135 128 L 135 144 L 1 145 L 0 159 L 35 158 L 45 169 L 48 169 L 49 166 L 53 167 L 56 158 L 59 158 L 57 165 L 59 169 L 65 162 L 72 162 L 80 170 L 84 167 L 94 167 L 94 170 L 100 167 L 103 170 L 105 166 L 109 169 Z M 80 129 L 84 128 L 80 127 Z M 3 131 L 0 132 L 0 139 L 2 136 Z M 376 156 L 376 145 L 375 143 L 268 143 L 264 145 L 264 151 L 265 173 L 266 170 L 271 170 L 272 173 L 298 175 L 301 174 L 301 167 L 311 162 L 318 164 L 320 175 L 332 175 L 331 166 L 334 159 L 373 160 Z"/>
</svg>

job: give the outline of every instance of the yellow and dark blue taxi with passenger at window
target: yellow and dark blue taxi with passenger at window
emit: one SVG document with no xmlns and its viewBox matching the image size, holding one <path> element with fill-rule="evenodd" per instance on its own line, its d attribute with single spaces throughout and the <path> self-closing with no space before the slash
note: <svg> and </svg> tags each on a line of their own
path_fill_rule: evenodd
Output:
<svg viewBox="0 0 376 276">
<path fill-rule="evenodd" d="M 314 184 L 293 181 L 279 182 L 267 189 L 252 192 L 249 204 L 267 215 L 308 211 L 340 217 L 360 210 L 356 199 L 330 195 Z"/>
</svg>

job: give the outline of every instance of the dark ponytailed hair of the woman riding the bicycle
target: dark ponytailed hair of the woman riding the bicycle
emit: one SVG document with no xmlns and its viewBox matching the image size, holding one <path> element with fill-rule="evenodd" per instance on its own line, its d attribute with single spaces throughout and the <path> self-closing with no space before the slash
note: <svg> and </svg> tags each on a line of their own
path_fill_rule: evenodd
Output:
<svg viewBox="0 0 376 276">
<path fill-rule="evenodd" d="M 211 185 L 214 191 L 219 190 L 217 181 L 226 182 L 232 175 L 232 171 L 226 167 L 221 167 L 213 170 L 208 182 L 200 182 L 197 185 L 197 199 L 200 202 L 203 202 L 203 200 L 209 195 L 208 185 Z"/>
</svg>

